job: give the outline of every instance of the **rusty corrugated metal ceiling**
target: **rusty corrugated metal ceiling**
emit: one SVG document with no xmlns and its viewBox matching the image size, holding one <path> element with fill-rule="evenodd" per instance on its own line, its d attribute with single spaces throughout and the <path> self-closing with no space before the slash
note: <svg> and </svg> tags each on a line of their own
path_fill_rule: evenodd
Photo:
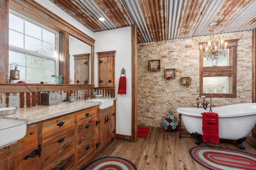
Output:
<svg viewBox="0 0 256 170">
<path fill-rule="evenodd" d="M 138 43 L 256 28 L 256 0 L 50 1 L 92 32 L 137 25 Z"/>
</svg>

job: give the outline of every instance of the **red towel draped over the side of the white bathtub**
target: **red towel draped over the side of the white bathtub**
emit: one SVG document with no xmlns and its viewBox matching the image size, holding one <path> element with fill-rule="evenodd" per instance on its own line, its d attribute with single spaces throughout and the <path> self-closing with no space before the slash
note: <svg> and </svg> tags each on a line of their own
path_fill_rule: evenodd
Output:
<svg viewBox="0 0 256 170">
<path fill-rule="evenodd" d="M 204 112 L 202 114 L 202 131 L 204 142 L 220 143 L 219 118 L 217 113 Z"/>
</svg>

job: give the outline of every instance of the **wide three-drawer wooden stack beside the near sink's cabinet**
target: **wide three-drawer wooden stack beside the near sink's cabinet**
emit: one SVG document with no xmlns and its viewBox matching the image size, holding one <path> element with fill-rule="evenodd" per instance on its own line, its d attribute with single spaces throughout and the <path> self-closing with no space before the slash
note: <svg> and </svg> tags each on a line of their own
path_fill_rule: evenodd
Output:
<svg viewBox="0 0 256 170">
<path fill-rule="evenodd" d="M 74 114 L 42 123 L 42 166 L 49 169 L 75 169 Z"/>
</svg>

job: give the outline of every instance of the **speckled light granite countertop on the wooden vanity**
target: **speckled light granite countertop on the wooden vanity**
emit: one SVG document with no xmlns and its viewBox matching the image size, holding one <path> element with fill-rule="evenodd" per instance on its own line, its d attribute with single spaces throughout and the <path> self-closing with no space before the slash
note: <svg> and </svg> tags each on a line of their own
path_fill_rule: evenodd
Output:
<svg viewBox="0 0 256 170">
<path fill-rule="evenodd" d="M 102 99 L 112 99 L 116 100 L 117 98 L 102 98 Z M 94 107 L 100 105 L 99 101 L 88 101 L 84 99 L 79 99 L 74 102 L 60 102 L 58 105 L 51 106 L 32 106 L 26 108 L 16 109 L 16 113 L 13 115 L 0 116 L 4 119 L 14 119 L 19 121 L 25 121 L 27 125 L 32 123 L 37 123 L 54 117 L 66 115 L 75 111 L 80 111 L 87 109 L 89 107 Z"/>
</svg>

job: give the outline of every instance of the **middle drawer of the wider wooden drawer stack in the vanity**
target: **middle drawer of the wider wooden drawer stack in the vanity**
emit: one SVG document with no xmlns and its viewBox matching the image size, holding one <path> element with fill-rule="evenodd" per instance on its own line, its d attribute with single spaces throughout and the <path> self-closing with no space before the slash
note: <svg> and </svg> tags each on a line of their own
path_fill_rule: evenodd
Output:
<svg viewBox="0 0 256 170">
<path fill-rule="evenodd" d="M 42 138 L 43 168 L 63 159 L 70 150 L 74 150 L 74 128 L 75 125 L 72 125 Z"/>
</svg>

